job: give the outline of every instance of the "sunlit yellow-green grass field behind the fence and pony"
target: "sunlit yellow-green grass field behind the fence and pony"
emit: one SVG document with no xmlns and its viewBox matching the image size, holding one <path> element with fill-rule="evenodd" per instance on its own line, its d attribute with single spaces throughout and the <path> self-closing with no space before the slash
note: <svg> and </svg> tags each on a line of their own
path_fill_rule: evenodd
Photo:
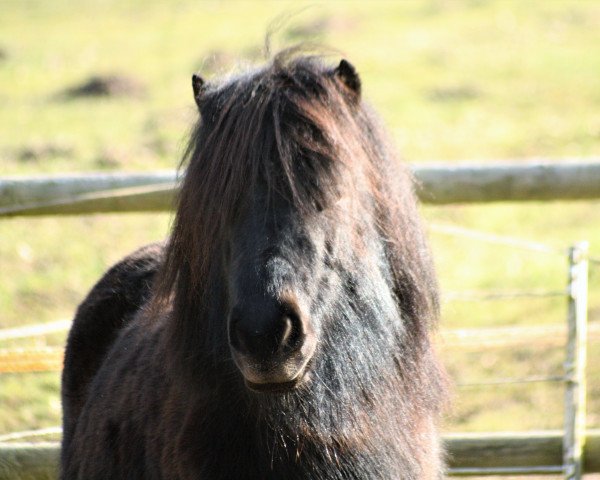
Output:
<svg viewBox="0 0 600 480">
<path fill-rule="evenodd" d="M 594 1 L 2 2 L 0 175 L 174 168 L 195 116 L 190 76 L 208 79 L 316 40 L 358 68 L 365 97 L 413 163 L 600 155 L 600 3 Z M 339 58 L 339 54 L 333 54 Z M 334 61 L 334 60 L 332 60 Z M 94 75 L 133 94 L 67 98 Z M 556 247 L 587 239 L 600 256 L 600 203 L 424 207 L 453 223 Z M 0 328 L 69 318 L 98 276 L 167 235 L 170 217 L 97 215 L 0 221 Z M 548 256 L 431 231 L 442 289 L 563 289 L 566 254 Z M 600 322 L 600 267 L 590 322 Z M 442 329 L 560 324 L 563 299 L 447 303 Z M 2 348 L 62 345 L 63 335 Z M 559 373 L 542 344 L 441 351 L 460 383 Z M 588 425 L 600 426 L 600 345 L 589 350 Z M 0 433 L 60 423 L 58 373 L 0 374 Z M 446 430 L 560 428 L 562 390 L 455 389 Z"/>
</svg>

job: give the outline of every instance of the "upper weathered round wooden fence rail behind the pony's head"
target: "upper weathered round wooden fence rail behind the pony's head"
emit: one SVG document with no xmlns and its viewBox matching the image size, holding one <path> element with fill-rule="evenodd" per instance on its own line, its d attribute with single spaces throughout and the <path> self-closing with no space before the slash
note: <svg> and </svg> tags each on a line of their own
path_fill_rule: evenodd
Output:
<svg viewBox="0 0 600 480">
<path fill-rule="evenodd" d="M 431 204 L 600 199 L 600 158 L 577 163 L 420 165 L 413 172 Z M 0 216 L 166 211 L 174 171 L 0 179 Z"/>
</svg>

